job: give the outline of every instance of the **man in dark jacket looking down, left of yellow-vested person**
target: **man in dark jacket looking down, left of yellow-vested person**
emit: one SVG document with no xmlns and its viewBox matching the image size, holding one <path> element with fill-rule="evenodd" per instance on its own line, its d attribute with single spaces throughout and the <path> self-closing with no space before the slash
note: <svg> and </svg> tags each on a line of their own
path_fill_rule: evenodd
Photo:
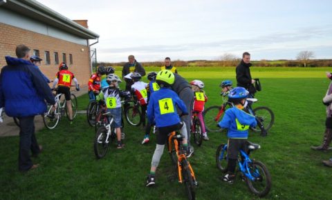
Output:
<svg viewBox="0 0 332 200">
<path fill-rule="evenodd" d="M 122 79 L 123 77 L 129 74 L 130 72 L 138 72 L 142 77 L 145 76 L 145 69 L 142 67 L 138 61 L 136 61 L 135 57 L 133 55 L 129 55 L 128 57 L 128 63 L 125 63 L 122 68 Z M 131 90 L 131 85 L 133 84 L 131 79 L 124 79 L 126 81 L 126 90 Z"/>
</svg>

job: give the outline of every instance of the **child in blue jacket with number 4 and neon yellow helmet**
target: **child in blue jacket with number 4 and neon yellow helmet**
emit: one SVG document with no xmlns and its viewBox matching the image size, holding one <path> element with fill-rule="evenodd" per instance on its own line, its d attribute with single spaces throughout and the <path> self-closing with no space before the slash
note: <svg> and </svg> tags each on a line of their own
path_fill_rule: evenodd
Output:
<svg viewBox="0 0 332 200">
<path fill-rule="evenodd" d="M 174 74 L 169 70 L 161 70 L 157 74 L 156 82 L 160 86 L 160 90 L 151 94 L 149 106 L 147 107 L 147 118 L 149 119 L 149 123 L 156 121 L 156 127 L 158 128 L 157 145 L 154 156 L 152 157 L 146 186 L 154 186 L 155 184 L 156 169 L 160 157 L 163 155 L 167 135 L 170 132 L 180 130 L 183 136 L 183 146 L 187 148 L 187 157 L 190 157 L 192 154 L 187 144 L 187 128 L 185 123 L 181 122 L 176 112 L 176 106 L 178 106 L 183 114 L 188 114 L 187 108 L 185 107 L 185 103 L 170 88 L 174 83 Z"/>
</svg>

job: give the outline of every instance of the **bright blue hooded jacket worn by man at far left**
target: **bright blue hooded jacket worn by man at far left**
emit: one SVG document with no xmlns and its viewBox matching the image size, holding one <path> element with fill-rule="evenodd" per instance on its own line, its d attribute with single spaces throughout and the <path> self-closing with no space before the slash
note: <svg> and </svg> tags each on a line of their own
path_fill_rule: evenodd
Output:
<svg viewBox="0 0 332 200">
<path fill-rule="evenodd" d="M 42 72 L 24 59 L 6 57 L 8 66 L 0 74 L 0 108 L 9 117 L 29 117 L 46 112 L 46 101 L 55 104 L 54 96 Z"/>
</svg>

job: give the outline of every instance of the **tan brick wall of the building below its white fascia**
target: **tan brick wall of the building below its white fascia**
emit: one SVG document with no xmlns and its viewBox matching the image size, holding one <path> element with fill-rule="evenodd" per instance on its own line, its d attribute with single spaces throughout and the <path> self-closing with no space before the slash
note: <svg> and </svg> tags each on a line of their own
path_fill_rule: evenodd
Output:
<svg viewBox="0 0 332 200">
<path fill-rule="evenodd" d="M 33 50 L 39 50 L 39 56 L 43 59 L 40 70 L 53 80 L 59 68 L 59 64 L 55 64 L 54 52 L 59 54 L 59 63 L 62 62 L 62 53 L 66 53 L 66 63 L 69 70 L 75 74 L 80 86 L 84 88 L 89 81 L 90 72 L 90 56 L 88 46 L 83 46 L 62 39 L 49 37 L 37 32 L 31 32 L 4 23 L 0 23 L 0 68 L 6 66 L 5 56 L 10 55 L 16 57 L 15 48 L 23 43 Z M 44 51 L 50 52 L 50 64 L 45 64 Z M 69 63 L 69 54 L 73 54 L 73 64 Z"/>
</svg>

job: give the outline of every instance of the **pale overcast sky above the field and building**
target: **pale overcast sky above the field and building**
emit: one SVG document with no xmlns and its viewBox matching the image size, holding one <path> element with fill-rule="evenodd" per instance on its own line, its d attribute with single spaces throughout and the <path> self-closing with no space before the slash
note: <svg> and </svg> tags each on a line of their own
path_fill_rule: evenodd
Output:
<svg viewBox="0 0 332 200">
<path fill-rule="evenodd" d="M 332 1 L 38 0 L 69 19 L 88 19 L 100 34 L 98 61 L 295 59 L 311 50 L 332 58 Z M 91 41 L 92 43 L 93 41 Z"/>
</svg>

